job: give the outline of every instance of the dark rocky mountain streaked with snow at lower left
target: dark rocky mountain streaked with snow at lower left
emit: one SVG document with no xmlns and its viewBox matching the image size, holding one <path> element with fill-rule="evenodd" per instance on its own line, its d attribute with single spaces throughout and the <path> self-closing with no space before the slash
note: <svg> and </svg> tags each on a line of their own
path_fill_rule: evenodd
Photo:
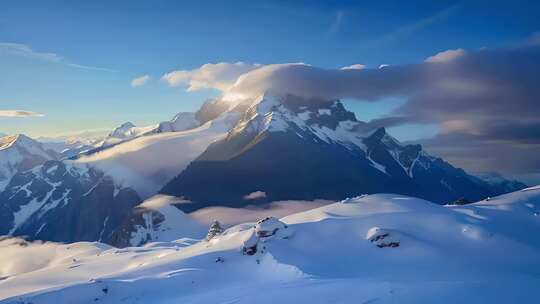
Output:
<svg viewBox="0 0 540 304">
<path fill-rule="evenodd" d="M 100 171 L 47 161 L 15 175 L 0 193 L 0 234 L 108 242 L 139 201 Z"/>
</svg>

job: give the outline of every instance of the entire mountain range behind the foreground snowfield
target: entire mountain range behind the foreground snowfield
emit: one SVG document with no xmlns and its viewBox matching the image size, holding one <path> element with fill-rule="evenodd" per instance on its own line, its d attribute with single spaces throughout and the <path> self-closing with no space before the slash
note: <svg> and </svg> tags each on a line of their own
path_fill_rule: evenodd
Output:
<svg viewBox="0 0 540 304">
<path fill-rule="evenodd" d="M 338 100 L 292 96 L 210 100 L 153 126 L 125 123 L 84 149 L 48 147 L 24 135 L 1 139 L 0 235 L 127 245 L 148 217 L 140 204 L 154 195 L 187 201 L 174 206 L 190 213 L 373 193 L 446 204 L 526 187 L 400 143 Z M 160 222 L 157 209 L 150 214 Z"/>
</svg>

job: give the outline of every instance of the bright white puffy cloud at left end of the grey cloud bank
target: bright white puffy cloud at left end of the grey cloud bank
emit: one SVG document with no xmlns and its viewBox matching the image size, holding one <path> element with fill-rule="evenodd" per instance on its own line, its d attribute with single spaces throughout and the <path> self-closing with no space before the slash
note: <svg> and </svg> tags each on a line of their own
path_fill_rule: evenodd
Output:
<svg viewBox="0 0 540 304">
<path fill-rule="evenodd" d="M 246 72 L 260 67 L 258 64 L 237 63 L 207 63 L 194 70 L 178 70 L 163 75 L 170 86 L 186 86 L 187 91 L 201 89 L 228 90 L 236 79 Z"/>
</svg>

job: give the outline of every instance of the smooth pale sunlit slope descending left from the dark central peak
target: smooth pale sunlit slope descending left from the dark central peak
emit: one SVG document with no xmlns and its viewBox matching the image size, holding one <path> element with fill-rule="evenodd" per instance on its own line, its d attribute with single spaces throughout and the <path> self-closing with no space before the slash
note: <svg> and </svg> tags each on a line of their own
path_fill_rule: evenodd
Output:
<svg viewBox="0 0 540 304">
<path fill-rule="evenodd" d="M 147 198 L 181 172 L 212 142 L 221 139 L 239 118 L 224 113 L 204 125 L 183 132 L 157 133 L 81 156 L 75 162 L 94 166 L 124 187 Z"/>
</svg>

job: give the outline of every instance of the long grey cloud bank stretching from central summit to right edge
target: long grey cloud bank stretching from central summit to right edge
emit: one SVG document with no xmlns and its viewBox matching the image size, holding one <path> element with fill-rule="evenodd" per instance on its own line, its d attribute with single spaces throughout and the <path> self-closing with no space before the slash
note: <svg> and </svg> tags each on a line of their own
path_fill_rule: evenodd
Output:
<svg viewBox="0 0 540 304">
<path fill-rule="evenodd" d="M 533 41 L 534 42 L 534 41 Z M 368 69 L 324 69 L 303 63 L 209 64 L 164 76 L 188 90 L 214 88 L 226 100 L 263 93 L 327 101 L 401 98 L 392 116 L 366 127 L 436 124 L 422 143 L 473 171 L 540 171 L 540 44 L 506 49 L 454 49 L 425 62 Z"/>
</svg>

